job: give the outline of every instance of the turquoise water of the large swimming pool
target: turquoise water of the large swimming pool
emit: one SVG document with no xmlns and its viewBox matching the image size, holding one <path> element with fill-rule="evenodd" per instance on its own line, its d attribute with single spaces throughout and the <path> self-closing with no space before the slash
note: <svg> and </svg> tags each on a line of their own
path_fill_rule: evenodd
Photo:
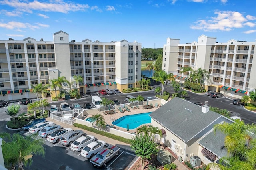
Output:
<svg viewBox="0 0 256 170">
<path fill-rule="evenodd" d="M 127 128 L 129 124 L 129 129 L 135 129 L 142 124 L 151 123 L 150 113 L 152 112 L 123 116 L 113 121 L 112 124 L 122 128 Z"/>
</svg>

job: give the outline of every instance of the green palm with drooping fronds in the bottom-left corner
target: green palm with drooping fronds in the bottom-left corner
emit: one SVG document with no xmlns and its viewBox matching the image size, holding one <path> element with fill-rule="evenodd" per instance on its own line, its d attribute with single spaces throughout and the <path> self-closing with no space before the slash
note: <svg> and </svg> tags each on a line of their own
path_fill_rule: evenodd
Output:
<svg viewBox="0 0 256 170">
<path fill-rule="evenodd" d="M 0 136 L 8 136 L 8 142 L 3 140 L 2 151 L 6 163 L 11 164 L 14 169 L 15 164 L 18 164 L 19 169 L 24 170 L 23 165 L 32 164 L 34 155 L 44 157 L 44 140 L 42 139 L 34 139 L 32 135 L 24 137 L 19 133 L 14 133 L 12 136 L 10 134 L 0 134 Z"/>
</svg>

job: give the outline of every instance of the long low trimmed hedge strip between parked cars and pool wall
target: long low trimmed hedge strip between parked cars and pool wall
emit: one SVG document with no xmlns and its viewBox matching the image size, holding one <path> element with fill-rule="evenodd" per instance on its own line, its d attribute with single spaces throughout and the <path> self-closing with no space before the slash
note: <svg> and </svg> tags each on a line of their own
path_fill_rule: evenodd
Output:
<svg viewBox="0 0 256 170">
<path fill-rule="evenodd" d="M 112 138 L 112 139 L 115 139 L 115 140 L 118 140 L 120 142 L 124 142 L 124 143 L 127 143 L 127 144 L 131 144 L 131 139 L 126 139 L 126 138 L 123 138 L 121 136 L 117 136 L 117 135 L 114 135 L 114 134 L 111 134 L 111 133 L 108 133 L 108 132 L 104 132 L 104 131 L 99 131 L 95 128 L 92 128 L 92 127 L 88 127 L 86 125 L 81 125 L 81 124 L 78 124 L 78 123 L 74 123 L 75 127 L 78 127 L 78 128 L 82 128 L 84 130 L 88 130 L 90 132 L 94 132 L 96 134 L 100 134 L 102 136 L 106 136 L 108 138 Z"/>
</svg>

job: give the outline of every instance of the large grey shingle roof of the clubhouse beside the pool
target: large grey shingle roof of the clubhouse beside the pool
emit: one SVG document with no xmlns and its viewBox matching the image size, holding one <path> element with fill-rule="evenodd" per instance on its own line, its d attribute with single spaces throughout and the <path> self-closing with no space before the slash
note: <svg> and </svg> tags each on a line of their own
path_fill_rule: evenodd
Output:
<svg viewBox="0 0 256 170">
<path fill-rule="evenodd" d="M 188 142 L 220 116 L 213 111 L 203 113 L 202 107 L 178 97 L 150 114 L 152 119 L 185 142 Z"/>
</svg>

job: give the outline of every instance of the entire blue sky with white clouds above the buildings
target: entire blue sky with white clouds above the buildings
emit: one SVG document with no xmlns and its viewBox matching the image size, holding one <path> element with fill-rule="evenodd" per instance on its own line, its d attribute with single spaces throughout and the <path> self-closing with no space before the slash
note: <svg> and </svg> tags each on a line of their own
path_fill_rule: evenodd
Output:
<svg viewBox="0 0 256 170">
<path fill-rule="evenodd" d="M 140 42 L 162 48 L 166 38 L 217 42 L 256 40 L 256 0 L 0 0 L 0 40 L 31 37 Z"/>
</svg>

